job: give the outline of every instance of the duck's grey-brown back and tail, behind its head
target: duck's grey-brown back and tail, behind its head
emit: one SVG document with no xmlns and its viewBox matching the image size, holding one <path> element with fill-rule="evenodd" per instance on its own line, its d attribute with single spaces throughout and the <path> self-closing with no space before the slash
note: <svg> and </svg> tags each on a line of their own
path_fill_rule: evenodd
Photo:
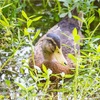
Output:
<svg viewBox="0 0 100 100">
<path fill-rule="evenodd" d="M 75 9 L 73 11 L 73 13 L 74 13 L 74 15 L 78 16 L 80 19 L 83 18 L 82 12 L 77 14 L 77 11 Z M 82 38 L 84 36 L 81 33 L 81 27 L 82 27 L 82 21 L 77 20 L 75 18 L 65 17 L 58 24 L 56 24 L 54 27 L 49 29 L 49 31 L 42 38 L 40 38 L 39 42 L 41 40 L 43 40 L 46 37 L 46 35 L 49 33 L 58 35 L 60 37 L 61 43 L 62 43 L 62 53 L 63 53 L 65 59 L 67 60 L 68 65 L 70 67 L 75 67 L 72 60 L 68 57 L 68 54 L 75 55 L 75 48 L 76 48 L 77 54 L 80 55 L 80 45 L 77 44 L 75 47 L 72 31 L 74 28 L 76 28 L 78 31 L 78 34 L 80 35 L 81 40 L 82 40 Z"/>
</svg>

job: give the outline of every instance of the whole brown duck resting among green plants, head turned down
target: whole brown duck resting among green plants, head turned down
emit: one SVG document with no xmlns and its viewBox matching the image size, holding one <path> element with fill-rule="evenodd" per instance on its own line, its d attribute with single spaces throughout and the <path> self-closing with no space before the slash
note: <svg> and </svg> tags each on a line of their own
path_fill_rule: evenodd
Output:
<svg viewBox="0 0 100 100">
<path fill-rule="evenodd" d="M 77 16 L 82 19 L 82 12 Z M 84 38 L 81 27 L 82 22 L 73 17 L 62 19 L 38 40 L 34 47 L 34 61 L 31 58 L 29 66 L 34 68 L 35 64 L 42 69 L 42 64 L 44 64 L 54 74 L 61 72 L 65 74 L 73 73 L 71 68 L 75 68 L 75 64 L 68 57 L 68 54 L 75 55 L 73 29 L 76 28 L 81 39 Z M 80 55 L 80 45 L 76 45 L 76 50 Z"/>
</svg>

